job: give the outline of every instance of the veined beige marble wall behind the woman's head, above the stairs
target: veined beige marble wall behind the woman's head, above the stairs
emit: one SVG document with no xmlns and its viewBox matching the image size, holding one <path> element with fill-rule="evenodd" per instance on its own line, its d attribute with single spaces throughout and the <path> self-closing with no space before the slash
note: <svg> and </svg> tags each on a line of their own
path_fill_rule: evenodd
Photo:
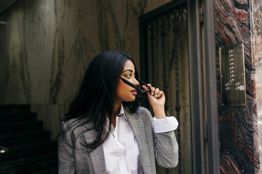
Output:
<svg viewBox="0 0 262 174">
<path fill-rule="evenodd" d="M 90 60 L 139 59 L 139 16 L 171 0 L 18 0 L 0 21 L 0 104 L 31 104 L 52 139 Z"/>
</svg>

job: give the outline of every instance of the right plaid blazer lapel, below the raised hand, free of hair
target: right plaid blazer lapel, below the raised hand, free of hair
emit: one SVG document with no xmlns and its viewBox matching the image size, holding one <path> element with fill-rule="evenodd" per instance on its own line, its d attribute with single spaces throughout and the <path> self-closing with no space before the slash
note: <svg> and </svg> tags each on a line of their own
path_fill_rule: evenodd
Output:
<svg viewBox="0 0 262 174">
<path fill-rule="evenodd" d="M 143 120 L 138 118 L 137 114 L 131 113 L 125 107 L 123 108 L 126 119 L 128 120 L 138 142 L 143 171 L 145 174 L 151 173 L 151 164 L 144 122 Z"/>
</svg>

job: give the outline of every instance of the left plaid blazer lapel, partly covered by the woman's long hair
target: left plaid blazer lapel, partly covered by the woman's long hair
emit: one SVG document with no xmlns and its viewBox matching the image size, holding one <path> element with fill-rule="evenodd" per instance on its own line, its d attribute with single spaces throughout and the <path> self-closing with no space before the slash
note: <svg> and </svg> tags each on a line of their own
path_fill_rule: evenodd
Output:
<svg viewBox="0 0 262 174">
<path fill-rule="evenodd" d="M 87 127 L 87 126 L 86 126 Z M 91 143 L 94 141 L 94 137 L 96 136 L 96 131 L 91 130 L 84 133 L 87 143 Z M 98 146 L 92 152 L 89 153 L 94 173 L 95 174 L 106 174 L 105 169 L 105 156 L 104 156 L 104 149 L 103 145 Z"/>
</svg>

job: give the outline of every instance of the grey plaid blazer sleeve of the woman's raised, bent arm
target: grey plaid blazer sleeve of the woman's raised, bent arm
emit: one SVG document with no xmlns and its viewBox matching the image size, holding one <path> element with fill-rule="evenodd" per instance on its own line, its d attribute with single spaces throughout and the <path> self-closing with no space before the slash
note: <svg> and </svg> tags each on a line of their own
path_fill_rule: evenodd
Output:
<svg viewBox="0 0 262 174">
<path fill-rule="evenodd" d="M 149 110 L 147 111 L 152 118 Z M 155 133 L 153 118 L 152 128 L 157 163 L 165 168 L 174 168 L 178 164 L 178 144 L 174 131 Z"/>
</svg>

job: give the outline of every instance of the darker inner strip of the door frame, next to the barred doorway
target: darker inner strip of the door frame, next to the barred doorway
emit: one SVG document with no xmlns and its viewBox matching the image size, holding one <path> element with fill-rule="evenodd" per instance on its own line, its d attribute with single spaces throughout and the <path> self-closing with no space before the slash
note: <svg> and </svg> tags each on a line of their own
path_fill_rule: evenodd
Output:
<svg viewBox="0 0 262 174">
<path fill-rule="evenodd" d="M 206 174 L 199 0 L 188 0 L 189 82 L 193 174 Z"/>
</svg>

